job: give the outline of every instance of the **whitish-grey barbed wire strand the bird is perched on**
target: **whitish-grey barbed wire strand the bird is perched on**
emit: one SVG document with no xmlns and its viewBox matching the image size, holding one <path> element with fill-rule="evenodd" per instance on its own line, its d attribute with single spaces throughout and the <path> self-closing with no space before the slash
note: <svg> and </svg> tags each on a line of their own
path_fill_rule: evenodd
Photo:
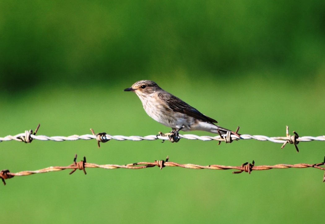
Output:
<svg viewBox="0 0 325 224">
<path fill-rule="evenodd" d="M 38 130 L 39 125 L 37 129 L 35 130 L 35 133 L 32 134 L 32 130 L 30 131 L 25 131 L 25 133 L 20 133 L 17 135 L 7 135 L 6 137 L 0 137 L 0 142 L 3 141 L 19 141 L 19 142 L 25 142 L 25 143 L 31 143 L 33 139 L 36 140 L 41 140 L 41 141 L 56 141 L 56 142 L 61 142 L 61 141 L 75 141 L 79 139 L 83 140 L 90 140 L 90 139 L 96 139 L 98 141 L 98 147 L 99 147 L 99 142 L 107 142 L 109 140 L 117 140 L 117 141 L 124 141 L 124 140 L 131 140 L 131 141 L 142 141 L 142 140 L 170 140 L 169 135 L 166 134 L 157 134 L 157 135 L 148 135 L 148 136 L 123 136 L 123 135 L 110 135 L 105 132 L 103 133 L 97 133 L 95 134 L 93 130 L 91 129 L 93 134 L 84 134 L 84 135 L 71 135 L 68 137 L 65 136 L 52 136 L 48 137 L 45 135 L 35 135 L 36 131 Z M 237 129 L 238 131 L 238 129 Z M 237 132 L 236 132 L 237 133 Z M 274 143 L 281 143 L 283 144 L 281 148 L 283 148 L 287 143 L 294 144 L 296 147 L 296 150 L 298 152 L 298 147 L 297 144 L 299 142 L 310 142 L 310 141 L 325 141 L 325 135 L 318 136 L 318 137 L 312 137 L 312 136 L 303 136 L 299 137 L 299 135 L 296 132 L 293 132 L 294 135 L 289 135 L 289 127 L 286 126 L 286 137 L 267 137 L 264 135 L 250 135 L 250 134 L 242 134 L 240 137 L 238 137 L 235 134 L 231 134 L 228 132 L 227 134 L 220 134 L 219 136 L 198 136 L 194 134 L 179 134 L 177 137 L 178 139 L 185 138 L 185 139 L 190 139 L 190 140 L 201 140 L 201 141 L 211 141 L 211 140 L 216 140 L 219 143 L 220 142 L 225 142 L 225 143 L 231 143 L 234 140 L 241 140 L 241 139 L 255 139 L 258 141 L 270 141 Z"/>
</svg>

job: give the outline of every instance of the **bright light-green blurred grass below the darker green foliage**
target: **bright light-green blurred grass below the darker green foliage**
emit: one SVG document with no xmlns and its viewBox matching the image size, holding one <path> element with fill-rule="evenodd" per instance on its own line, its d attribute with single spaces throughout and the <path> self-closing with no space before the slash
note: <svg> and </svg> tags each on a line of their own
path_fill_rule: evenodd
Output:
<svg viewBox="0 0 325 224">
<path fill-rule="evenodd" d="M 0 135 L 35 128 L 48 136 L 105 131 L 112 135 L 149 135 L 169 129 L 149 118 L 135 94 L 123 92 L 132 82 L 83 88 L 34 89 L 18 98 L 1 99 Z M 324 83 L 324 82 L 323 82 Z M 186 80 L 161 86 L 241 133 L 284 136 L 285 125 L 301 136 L 324 134 L 325 88 L 319 80 L 226 79 L 224 82 Z M 44 88 L 44 89 L 43 89 Z M 208 133 L 193 132 L 199 135 Z M 86 156 L 98 164 L 170 161 L 195 164 L 256 165 L 322 162 L 322 142 L 300 143 L 280 149 L 271 142 L 181 140 L 109 141 L 97 148 L 95 140 L 71 142 L 2 142 L 1 169 L 36 170 L 72 163 Z M 4 223 L 86 222 L 318 222 L 325 199 L 323 172 L 308 169 L 254 171 L 189 170 L 166 167 L 143 170 L 87 169 L 14 177 L 1 187 Z"/>
</svg>

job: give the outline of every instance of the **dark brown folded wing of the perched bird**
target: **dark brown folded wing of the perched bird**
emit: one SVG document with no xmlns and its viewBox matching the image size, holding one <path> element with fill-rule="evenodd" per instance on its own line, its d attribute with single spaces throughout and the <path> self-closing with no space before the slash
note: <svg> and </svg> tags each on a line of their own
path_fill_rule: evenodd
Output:
<svg viewBox="0 0 325 224">
<path fill-rule="evenodd" d="M 216 120 L 209 118 L 202 114 L 200 111 L 191 107 L 181 99 L 177 98 L 176 96 L 165 92 L 165 93 L 158 93 L 158 97 L 164 101 L 170 109 L 173 111 L 177 111 L 183 114 L 187 114 L 193 118 L 200 119 L 209 123 L 218 123 Z"/>
</svg>

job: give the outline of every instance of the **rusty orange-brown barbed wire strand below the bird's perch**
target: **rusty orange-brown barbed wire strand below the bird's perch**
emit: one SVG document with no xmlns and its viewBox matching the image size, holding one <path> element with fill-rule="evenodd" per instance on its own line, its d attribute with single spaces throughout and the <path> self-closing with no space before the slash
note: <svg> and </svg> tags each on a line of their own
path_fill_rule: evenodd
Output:
<svg viewBox="0 0 325 224">
<path fill-rule="evenodd" d="M 77 154 L 74 156 L 73 163 L 69 166 L 50 166 L 44 169 L 35 170 L 35 171 L 21 171 L 18 173 L 10 173 L 9 170 L 1 170 L 0 171 L 0 178 L 2 179 L 2 182 L 4 185 L 6 185 L 5 179 L 12 178 L 14 176 L 27 176 L 32 174 L 41 174 L 41 173 L 47 173 L 47 172 L 53 172 L 53 171 L 61 171 L 66 169 L 72 169 L 72 171 L 69 174 L 72 174 L 76 170 L 83 170 L 84 174 L 87 174 L 85 171 L 85 168 L 103 168 L 103 169 L 118 169 L 118 168 L 124 168 L 124 169 L 144 169 L 149 167 L 158 166 L 160 169 L 166 166 L 178 166 L 182 168 L 188 168 L 188 169 L 210 169 L 210 170 L 229 170 L 229 169 L 236 169 L 238 171 L 232 172 L 233 174 L 239 174 L 242 172 L 246 172 L 251 174 L 253 170 L 270 170 L 270 169 L 286 169 L 286 168 L 307 168 L 307 167 L 313 167 L 320 170 L 325 171 L 324 167 L 320 167 L 321 165 L 324 165 L 325 163 L 325 157 L 323 162 L 315 163 L 315 164 L 307 164 L 307 163 L 299 163 L 299 164 L 277 164 L 273 166 L 269 165 L 260 165 L 255 166 L 255 162 L 252 163 L 245 162 L 241 164 L 240 166 L 224 166 L 224 165 L 196 165 L 196 164 L 180 164 L 176 162 L 170 162 L 168 161 L 168 156 L 166 160 L 155 160 L 154 162 L 135 162 L 130 163 L 126 165 L 117 165 L 117 164 L 106 164 L 106 165 L 98 165 L 95 163 L 88 163 L 86 162 L 86 157 L 84 156 L 84 160 L 81 160 L 80 162 L 77 162 Z M 323 182 L 325 181 L 325 172 L 323 175 Z"/>
</svg>

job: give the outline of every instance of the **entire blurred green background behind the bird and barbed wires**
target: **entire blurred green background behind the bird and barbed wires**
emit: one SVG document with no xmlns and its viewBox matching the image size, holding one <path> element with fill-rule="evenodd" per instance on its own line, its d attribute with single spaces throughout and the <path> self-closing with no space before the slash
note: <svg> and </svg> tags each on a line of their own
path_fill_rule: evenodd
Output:
<svg viewBox="0 0 325 224">
<path fill-rule="evenodd" d="M 325 2 L 0 1 L 0 136 L 170 129 L 144 112 L 135 81 L 151 79 L 240 133 L 324 135 Z M 192 132 L 198 135 L 210 133 Z M 211 134 L 212 135 L 212 134 Z M 1 142 L 11 172 L 78 160 L 165 159 L 201 165 L 318 163 L 323 142 L 180 140 Z M 1 187 L 4 223 L 306 223 L 323 221 L 316 169 L 87 169 L 15 177 Z"/>
</svg>

